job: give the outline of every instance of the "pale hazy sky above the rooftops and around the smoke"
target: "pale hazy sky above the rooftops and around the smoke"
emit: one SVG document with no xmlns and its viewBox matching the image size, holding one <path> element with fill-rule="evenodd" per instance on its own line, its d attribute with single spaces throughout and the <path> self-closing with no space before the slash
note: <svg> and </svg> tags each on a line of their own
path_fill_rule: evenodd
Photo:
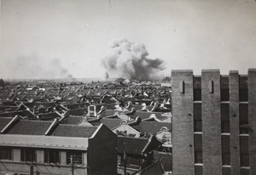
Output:
<svg viewBox="0 0 256 175">
<path fill-rule="evenodd" d="M 0 78 L 104 77 L 101 60 L 122 38 L 165 60 L 165 76 L 247 74 L 256 67 L 256 2 L 2 0 Z"/>
</svg>

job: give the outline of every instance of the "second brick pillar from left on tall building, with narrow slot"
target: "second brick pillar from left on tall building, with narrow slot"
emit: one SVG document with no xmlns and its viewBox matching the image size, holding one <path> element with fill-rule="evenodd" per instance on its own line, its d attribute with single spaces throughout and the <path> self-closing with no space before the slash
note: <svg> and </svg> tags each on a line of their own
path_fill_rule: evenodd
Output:
<svg viewBox="0 0 256 175">
<path fill-rule="evenodd" d="M 202 71 L 201 93 L 203 173 L 222 174 L 219 71 Z"/>
</svg>

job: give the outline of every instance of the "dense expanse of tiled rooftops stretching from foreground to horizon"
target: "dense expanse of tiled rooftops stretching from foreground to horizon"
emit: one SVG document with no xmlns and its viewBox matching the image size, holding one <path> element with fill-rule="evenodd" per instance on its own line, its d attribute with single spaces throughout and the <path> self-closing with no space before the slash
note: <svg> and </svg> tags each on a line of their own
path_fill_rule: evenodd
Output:
<svg viewBox="0 0 256 175">
<path fill-rule="evenodd" d="M 168 80 L 122 78 L 6 83 L 0 89 L 1 130 L 3 134 L 90 138 L 103 124 L 118 136 L 118 173 L 125 168 L 148 174 L 155 167 L 171 172 L 172 163 L 162 161 L 172 160 L 169 85 Z"/>
</svg>

